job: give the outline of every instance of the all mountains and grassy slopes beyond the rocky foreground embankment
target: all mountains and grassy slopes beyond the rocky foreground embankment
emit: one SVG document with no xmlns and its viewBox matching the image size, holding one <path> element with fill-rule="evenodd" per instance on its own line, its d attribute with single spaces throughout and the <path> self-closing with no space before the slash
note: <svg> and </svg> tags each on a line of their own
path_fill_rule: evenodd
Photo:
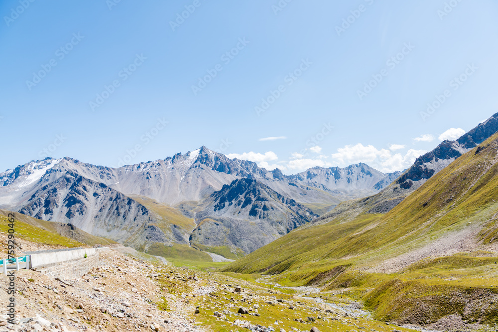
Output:
<svg viewBox="0 0 498 332">
<path fill-rule="evenodd" d="M 116 241 L 316 287 L 379 321 L 463 331 L 498 323 L 497 175 L 498 113 L 389 174 L 360 163 L 284 175 L 204 146 L 120 168 L 31 161 L 0 173 L 0 215 L 52 244 Z"/>
</svg>

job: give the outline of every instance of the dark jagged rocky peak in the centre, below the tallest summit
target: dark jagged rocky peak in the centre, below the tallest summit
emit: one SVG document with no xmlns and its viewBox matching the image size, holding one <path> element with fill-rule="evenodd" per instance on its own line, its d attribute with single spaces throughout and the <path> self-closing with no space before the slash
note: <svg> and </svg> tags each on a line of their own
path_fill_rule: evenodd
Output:
<svg viewBox="0 0 498 332">
<path fill-rule="evenodd" d="M 249 253 L 316 217 L 261 182 L 240 179 L 213 193 L 196 213 L 190 242 Z"/>
</svg>

